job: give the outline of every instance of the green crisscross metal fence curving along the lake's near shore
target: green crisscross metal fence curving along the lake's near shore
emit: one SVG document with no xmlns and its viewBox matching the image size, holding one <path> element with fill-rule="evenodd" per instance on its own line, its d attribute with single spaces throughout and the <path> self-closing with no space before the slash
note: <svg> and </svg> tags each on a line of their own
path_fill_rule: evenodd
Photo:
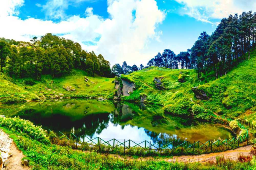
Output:
<svg viewBox="0 0 256 170">
<path fill-rule="evenodd" d="M 221 116 L 217 116 L 217 115 L 213 115 L 214 117 L 219 117 L 222 119 L 226 119 L 228 122 L 232 121 L 232 119 L 227 119 L 225 117 L 221 117 Z M 74 133 L 70 133 L 68 135 L 65 135 L 64 133 L 62 133 L 61 131 L 57 131 L 56 133 L 52 132 L 50 129 L 49 133 L 52 132 L 56 135 L 57 137 L 57 143 L 58 143 L 58 138 L 60 137 L 65 137 L 68 140 L 75 140 L 76 142 L 76 147 L 78 147 L 77 145 L 79 143 L 88 143 L 90 145 L 108 145 L 111 147 L 118 147 L 118 146 L 122 146 L 124 147 L 124 149 L 126 148 L 133 148 L 133 147 L 140 147 L 146 150 L 151 150 L 151 149 L 155 149 L 155 150 L 161 150 L 161 149 L 171 149 L 172 152 L 174 152 L 174 150 L 178 147 L 183 147 L 185 149 L 195 149 L 195 148 L 199 148 L 199 149 L 203 149 L 203 148 L 212 148 L 213 147 L 220 147 L 220 146 L 224 146 L 224 147 L 228 147 L 228 146 L 232 146 L 232 147 L 239 147 L 241 143 L 243 142 L 249 142 L 249 132 L 248 129 L 245 128 L 242 124 L 238 123 L 239 128 L 241 129 L 246 129 L 247 133 L 243 136 L 239 136 L 239 137 L 233 137 L 232 139 L 225 139 L 225 140 L 208 140 L 207 142 L 201 142 L 201 141 L 194 141 L 194 142 L 189 142 L 189 141 L 184 141 L 181 143 L 178 143 L 176 141 L 171 141 L 169 143 L 164 143 L 162 141 L 157 141 L 155 143 L 151 143 L 151 141 L 134 141 L 131 139 L 128 140 L 121 140 L 121 139 L 104 139 L 104 138 L 100 138 L 100 137 L 95 137 L 95 138 L 90 138 L 86 135 L 81 135 L 81 136 L 76 136 Z"/>
</svg>

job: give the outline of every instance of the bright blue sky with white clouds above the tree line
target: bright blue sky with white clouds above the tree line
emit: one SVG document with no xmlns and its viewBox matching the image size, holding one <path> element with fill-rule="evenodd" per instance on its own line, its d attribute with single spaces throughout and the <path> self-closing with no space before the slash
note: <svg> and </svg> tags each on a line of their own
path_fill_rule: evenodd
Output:
<svg viewBox="0 0 256 170">
<path fill-rule="evenodd" d="M 222 18 L 255 9 L 255 0 L 0 0 L 0 37 L 29 41 L 52 33 L 112 65 L 145 65 L 166 48 L 191 48 Z"/>
</svg>

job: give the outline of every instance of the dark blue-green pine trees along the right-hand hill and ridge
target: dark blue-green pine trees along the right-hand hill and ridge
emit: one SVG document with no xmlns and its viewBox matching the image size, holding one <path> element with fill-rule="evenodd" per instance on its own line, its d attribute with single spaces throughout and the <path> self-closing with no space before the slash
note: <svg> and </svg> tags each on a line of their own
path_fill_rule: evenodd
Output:
<svg viewBox="0 0 256 170">
<path fill-rule="evenodd" d="M 187 51 L 176 55 L 170 49 L 158 53 L 150 59 L 147 67 L 165 67 L 171 69 L 196 69 L 197 78 L 202 79 L 202 73 L 214 72 L 217 79 L 225 75 L 241 60 L 250 58 L 250 50 L 256 42 L 256 13 L 243 12 L 223 18 L 212 35 L 203 32 L 195 44 Z M 118 74 L 136 71 L 126 62 L 114 65 L 112 70 Z M 142 65 L 143 66 L 143 65 Z M 137 66 L 136 66 L 137 67 Z M 118 68 L 118 69 L 117 69 Z"/>
</svg>

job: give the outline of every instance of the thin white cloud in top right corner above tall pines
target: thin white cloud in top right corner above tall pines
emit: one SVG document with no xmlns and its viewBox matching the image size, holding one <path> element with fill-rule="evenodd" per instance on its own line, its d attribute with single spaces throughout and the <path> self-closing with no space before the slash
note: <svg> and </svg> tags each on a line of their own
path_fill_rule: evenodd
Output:
<svg viewBox="0 0 256 170">
<path fill-rule="evenodd" d="M 222 19 L 230 14 L 241 14 L 243 11 L 256 9 L 255 0 L 175 0 L 184 5 L 180 10 L 199 21 L 212 23 L 211 19 Z"/>
</svg>

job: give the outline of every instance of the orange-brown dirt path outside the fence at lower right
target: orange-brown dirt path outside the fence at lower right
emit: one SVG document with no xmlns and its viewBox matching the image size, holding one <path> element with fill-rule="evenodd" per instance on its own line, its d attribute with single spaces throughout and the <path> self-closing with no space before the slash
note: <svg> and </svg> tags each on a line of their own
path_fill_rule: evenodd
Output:
<svg viewBox="0 0 256 170">
<path fill-rule="evenodd" d="M 240 147 L 234 150 L 228 150 L 225 152 L 209 153 L 203 155 L 193 155 L 193 156 L 174 156 L 172 159 L 166 159 L 168 162 L 207 162 L 215 161 L 216 156 L 223 155 L 225 158 L 232 160 L 237 160 L 238 155 L 250 155 L 251 145 Z"/>
</svg>

